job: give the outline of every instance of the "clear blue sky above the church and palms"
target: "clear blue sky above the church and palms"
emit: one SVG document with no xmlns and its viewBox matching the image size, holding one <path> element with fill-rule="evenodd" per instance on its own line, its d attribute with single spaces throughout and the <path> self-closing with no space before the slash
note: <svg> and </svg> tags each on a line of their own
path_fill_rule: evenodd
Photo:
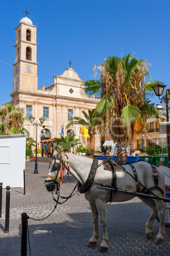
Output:
<svg viewBox="0 0 170 256">
<path fill-rule="evenodd" d="M 169 0 L 1 1 L 0 105 L 11 101 L 15 27 L 25 9 L 37 26 L 38 88 L 53 84 L 53 76 L 62 75 L 69 60 L 79 77 L 88 80 L 95 64 L 129 52 L 152 64 L 152 80 L 170 87 L 169 7 Z M 152 102 L 158 104 L 158 97 Z"/>
</svg>

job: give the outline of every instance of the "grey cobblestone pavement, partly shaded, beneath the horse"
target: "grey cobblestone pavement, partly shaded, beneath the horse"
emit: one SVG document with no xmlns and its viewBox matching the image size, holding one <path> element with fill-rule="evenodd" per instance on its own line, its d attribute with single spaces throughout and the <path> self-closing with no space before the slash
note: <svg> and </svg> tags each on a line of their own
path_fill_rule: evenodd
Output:
<svg viewBox="0 0 170 256">
<path fill-rule="evenodd" d="M 44 218 L 53 210 L 55 202 L 51 193 L 44 187 L 48 166 L 48 163 L 39 162 L 39 174 L 34 174 L 34 162 L 26 162 L 26 194 L 23 195 L 23 188 L 10 190 L 9 233 L 4 233 L 6 189 L 3 189 L 0 255 L 20 255 L 20 224 L 23 212 L 32 218 Z M 75 183 L 73 177 L 64 180 L 61 196 L 69 196 Z M 55 212 L 46 220 L 37 222 L 29 219 L 31 255 L 170 255 L 170 227 L 166 227 L 166 239 L 162 245 L 154 244 L 159 230 L 159 223 L 156 220 L 153 238 L 148 240 L 145 236 L 145 223 L 150 213 L 150 208 L 138 198 L 107 206 L 110 247 L 107 253 L 99 253 L 98 247 L 102 236 L 95 248 L 86 246 L 93 233 L 91 210 L 84 195 L 75 194 L 66 203 L 58 205 Z"/>
</svg>

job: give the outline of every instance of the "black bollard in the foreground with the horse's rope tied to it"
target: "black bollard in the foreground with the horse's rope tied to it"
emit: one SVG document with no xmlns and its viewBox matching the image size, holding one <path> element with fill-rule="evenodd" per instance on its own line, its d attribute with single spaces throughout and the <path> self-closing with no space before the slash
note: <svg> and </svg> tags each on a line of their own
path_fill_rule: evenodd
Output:
<svg viewBox="0 0 170 256">
<path fill-rule="evenodd" d="M 21 256 L 27 256 L 27 213 L 22 213 L 21 224 Z"/>
</svg>

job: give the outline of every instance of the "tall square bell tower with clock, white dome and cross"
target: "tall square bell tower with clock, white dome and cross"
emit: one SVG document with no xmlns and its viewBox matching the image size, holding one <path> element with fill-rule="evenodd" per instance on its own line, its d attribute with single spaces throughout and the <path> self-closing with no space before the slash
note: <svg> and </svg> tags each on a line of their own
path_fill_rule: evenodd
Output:
<svg viewBox="0 0 170 256">
<path fill-rule="evenodd" d="M 26 16 L 16 27 L 13 94 L 20 90 L 37 90 L 37 27 Z M 11 96 L 13 96 L 13 94 Z"/>
</svg>

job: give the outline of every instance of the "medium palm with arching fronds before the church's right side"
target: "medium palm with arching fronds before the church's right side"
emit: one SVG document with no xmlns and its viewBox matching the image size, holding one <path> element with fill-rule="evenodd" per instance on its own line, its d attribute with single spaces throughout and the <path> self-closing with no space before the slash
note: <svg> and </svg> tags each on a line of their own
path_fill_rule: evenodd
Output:
<svg viewBox="0 0 170 256">
<path fill-rule="evenodd" d="M 81 117 L 72 117 L 70 119 L 69 124 L 67 124 L 66 128 L 69 129 L 69 127 L 73 126 L 74 124 L 83 125 L 88 130 L 90 152 L 94 152 L 95 148 L 93 148 L 93 146 L 91 145 L 91 142 L 99 127 L 100 120 L 98 119 L 98 116 L 96 115 L 95 110 L 88 110 L 88 113 L 86 113 L 83 110 L 82 113 L 85 119 Z"/>
</svg>

